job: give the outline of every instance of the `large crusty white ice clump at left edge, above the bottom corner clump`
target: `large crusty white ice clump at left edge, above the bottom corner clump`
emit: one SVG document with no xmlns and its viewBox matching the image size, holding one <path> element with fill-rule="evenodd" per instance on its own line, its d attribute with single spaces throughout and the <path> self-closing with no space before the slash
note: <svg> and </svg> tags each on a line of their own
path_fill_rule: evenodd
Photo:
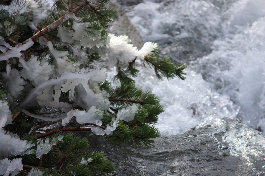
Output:
<svg viewBox="0 0 265 176">
<path fill-rule="evenodd" d="M 30 154 L 33 150 L 28 150 L 34 144 L 28 143 L 26 140 L 20 140 L 19 136 L 3 130 L 6 125 L 7 116 L 0 120 L 0 156 L 11 157 L 16 155 Z"/>
</svg>

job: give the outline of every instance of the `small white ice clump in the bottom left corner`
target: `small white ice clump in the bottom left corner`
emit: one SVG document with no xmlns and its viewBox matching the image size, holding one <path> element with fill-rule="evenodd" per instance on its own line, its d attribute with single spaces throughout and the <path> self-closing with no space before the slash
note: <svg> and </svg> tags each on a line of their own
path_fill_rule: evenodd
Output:
<svg viewBox="0 0 265 176">
<path fill-rule="evenodd" d="M 17 175 L 23 169 L 22 158 L 14 158 L 12 161 L 8 158 L 0 160 L 0 175 Z"/>
</svg>

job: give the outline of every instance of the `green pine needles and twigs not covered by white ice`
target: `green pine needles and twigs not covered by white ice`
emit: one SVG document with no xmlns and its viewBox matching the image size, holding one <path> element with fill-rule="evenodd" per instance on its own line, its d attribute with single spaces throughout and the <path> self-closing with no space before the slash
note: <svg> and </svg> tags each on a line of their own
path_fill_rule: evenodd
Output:
<svg viewBox="0 0 265 176">
<path fill-rule="evenodd" d="M 16 1 L 17 5 L 28 3 L 28 1 Z M 36 1 L 41 3 L 42 1 Z M 106 8 L 105 5 L 109 0 L 97 1 L 96 5 L 87 4 L 74 12 L 79 23 L 90 23 L 91 26 L 86 28 L 89 35 L 94 35 L 90 31 L 98 31 L 101 40 L 107 39 L 106 28 L 115 21 L 115 10 Z M 82 3 L 87 3 L 85 0 L 58 0 L 54 3 L 53 9 L 49 11 L 46 19 L 34 24 L 40 31 L 47 28 L 50 24 L 54 24 L 57 20 L 62 18 L 65 14 L 71 12 L 80 6 Z M 9 5 L 5 3 L 4 5 Z M 4 53 L 3 48 L 7 51 L 11 47 L 15 47 L 18 43 L 23 43 L 26 39 L 36 36 L 38 31 L 29 30 L 29 14 L 14 12 L 10 14 L 7 10 L 0 10 L 0 56 Z M 74 19 L 62 21 L 62 25 L 69 31 L 74 31 Z M 70 50 L 74 47 L 73 44 L 66 44 L 58 37 L 58 26 L 54 29 L 49 29 L 42 33 L 47 40 L 51 41 L 53 47 L 57 51 L 68 51 L 67 59 L 73 63 L 78 62 L 75 53 Z M 37 38 L 39 38 L 38 36 Z M 9 47 L 10 46 L 10 47 Z M 79 48 L 80 50 L 84 47 Z M 24 59 L 29 60 L 32 55 L 37 56 L 37 61 L 47 60 L 49 65 L 54 62 L 54 56 L 50 54 L 47 45 L 41 45 L 37 40 L 34 41 L 32 47 L 26 51 L 21 51 Z M 92 63 L 101 59 L 101 56 L 96 51 L 86 51 L 86 61 L 80 65 L 80 68 L 92 68 Z M 40 172 L 42 175 L 107 175 L 115 173 L 115 167 L 112 162 L 101 151 L 90 151 L 89 139 L 80 138 L 71 134 L 71 131 L 86 131 L 91 132 L 91 125 L 97 128 L 107 129 L 108 126 L 114 126 L 117 123 L 117 128 L 113 131 L 112 135 L 105 135 L 106 140 L 110 144 L 134 144 L 150 146 L 154 138 L 158 138 L 160 133 L 154 124 L 158 123 L 158 115 L 163 113 L 163 107 L 159 103 L 159 98 L 149 91 L 143 91 L 135 86 L 134 77 L 137 76 L 140 70 L 135 68 L 135 58 L 128 63 L 119 64 L 117 61 L 117 76 L 115 76 L 115 83 L 117 86 L 112 86 L 110 81 L 100 83 L 99 89 L 106 92 L 107 98 L 110 101 L 109 108 L 102 110 L 102 125 L 95 123 L 79 124 L 76 117 L 73 117 L 67 126 L 62 126 L 62 120 L 51 121 L 50 117 L 58 118 L 65 115 L 62 110 L 51 108 L 45 105 L 39 105 L 36 101 L 32 101 L 23 110 L 16 112 L 13 115 L 12 124 L 6 125 L 4 129 L 10 133 L 19 136 L 21 140 L 27 140 L 29 143 L 34 144 L 28 150 L 33 152 L 29 154 L 21 154 L 14 157 L 9 157 L 10 160 L 14 158 L 22 158 L 23 170 L 19 175 L 26 175 L 29 172 Z M 23 89 L 21 95 L 12 96 L 6 82 L 4 75 L 7 73 L 7 65 L 10 64 L 11 69 L 16 69 L 18 72 L 22 70 L 19 58 L 11 58 L 10 61 L 0 61 L 0 100 L 1 102 L 8 102 L 10 106 L 10 113 L 12 110 L 19 106 L 23 99 L 27 96 L 30 90 L 35 88 L 31 85 L 32 81 L 21 77 L 27 83 L 26 88 Z M 185 79 L 186 65 L 179 63 L 172 63 L 170 58 L 163 58 L 159 56 L 159 48 L 155 48 L 151 54 L 145 56 L 142 61 L 142 66 L 151 66 L 155 70 L 157 78 L 174 78 Z M 53 79 L 53 78 L 50 78 Z M 54 88 L 53 86 L 52 88 Z M 55 90 L 53 90 L 55 94 Z M 74 104 L 73 100 L 69 98 L 71 92 L 62 92 L 59 96 L 59 103 L 73 105 L 73 109 L 86 110 Z M 12 106 L 11 106 L 12 105 Z M 75 106 L 74 106 L 75 105 Z M 130 108 L 132 105 L 137 105 L 138 110 L 135 112 L 133 120 L 125 121 L 117 118 L 120 110 Z M 13 107 L 14 106 L 14 107 Z M 41 116 L 44 118 L 38 118 Z M 47 119 L 45 119 L 45 117 Z M 1 119 L 0 119 L 1 120 Z M 90 125 L 90 126 L 86 126 Z M 87 128 L 82 128 L 86 126 Z M 41 143 L 49 139 L 49 145 L 42 145 L 50 147 L 47 152 L 44 152 L 40 157 L 38 156 Z M 0 158 L 1 159 L 1 158 Z"/>
</svg>

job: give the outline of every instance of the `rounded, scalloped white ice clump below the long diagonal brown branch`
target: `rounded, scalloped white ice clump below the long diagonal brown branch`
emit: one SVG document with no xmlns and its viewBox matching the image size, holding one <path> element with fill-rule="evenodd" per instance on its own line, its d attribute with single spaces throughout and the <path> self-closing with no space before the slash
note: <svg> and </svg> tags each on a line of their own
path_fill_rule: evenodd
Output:
<svg viewBox="0 0 265 176">
<path fill-rule="evenodd" d="M 23 67 L 20 71 L 21 76 L 32 81 L 33 86 L 48 80 L 54 70 L 54 66 L 45 59 L 37 61 L 37 56 L 33 55 L 29 61 L 26 62 L 23 58 L 19 58 L 19 62 L 19 66 Z"/>
</svg>

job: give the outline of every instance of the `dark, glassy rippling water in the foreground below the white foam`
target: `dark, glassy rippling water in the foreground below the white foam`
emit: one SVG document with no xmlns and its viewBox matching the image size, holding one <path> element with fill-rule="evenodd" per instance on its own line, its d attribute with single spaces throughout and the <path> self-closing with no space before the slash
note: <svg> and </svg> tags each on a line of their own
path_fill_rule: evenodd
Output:
<svg viewBox="0 0 265 176">
<path fill-rule="evenodd" d="M 117 176 L 256 176 L 265 175 L 265 137 L 240 119 L 210 115 L 182 135 L 155 139 L 151 147 L 109 145 L 90 139 L 92 150 L 102 150 Z"/>
</svg>

